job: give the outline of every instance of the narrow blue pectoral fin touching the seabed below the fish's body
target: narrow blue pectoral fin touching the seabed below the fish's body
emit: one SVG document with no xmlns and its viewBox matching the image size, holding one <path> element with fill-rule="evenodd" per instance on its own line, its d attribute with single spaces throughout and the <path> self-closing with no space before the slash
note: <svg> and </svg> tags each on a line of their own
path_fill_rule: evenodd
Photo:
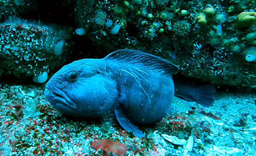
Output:
<svg viewBox="0 0 256 156">
<path fill-rule="evenodd" d="M 145 134 L 142 133 L 141 130 L 139 130 L 128 117 L 125 115 L 125 113 L 122 111 L 122 108 L 117 105 L 115 110 L 116 119 L 119 122 L 119 124 L 122 126 L 123 129 L 127 130 L 128 132 L 133 132 L 134 136 L 137 137 L 144 137 Z"/>
</svg>

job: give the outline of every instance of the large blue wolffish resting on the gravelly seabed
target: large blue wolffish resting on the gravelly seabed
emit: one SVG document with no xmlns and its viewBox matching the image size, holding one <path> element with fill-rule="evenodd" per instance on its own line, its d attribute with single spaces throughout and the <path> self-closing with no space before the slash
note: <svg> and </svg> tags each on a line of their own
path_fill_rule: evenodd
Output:
<svg viewBox="0 0 256 156">
<path fill-rule="evenodd" d="M 143 137 L 133 123 L 156 123 L 171 111 L 172 75 L 178 70 L 160 57 L 123 49 L 65 65 L 47 82 L 44 94 L 55 109 L 71 116 L 113 111 L 122 128 Z"/>
</svg>

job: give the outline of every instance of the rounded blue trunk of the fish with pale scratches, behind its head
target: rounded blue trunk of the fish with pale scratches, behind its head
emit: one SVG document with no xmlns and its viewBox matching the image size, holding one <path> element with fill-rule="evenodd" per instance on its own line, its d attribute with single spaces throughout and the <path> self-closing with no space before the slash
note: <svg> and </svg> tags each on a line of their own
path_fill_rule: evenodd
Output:
<svg viewBox="0 0 256 156">
<path fill-rule="evenodd" d="M 176 65 L 164 62 L 171 66 L 166 68 L 174 68 L 170 73 L 164 73 L 164 69 L 155 68 L 157 63 L 143 65 L 148 62 L 127 62 L 118 58 L 107 62 L 111 64 L 111 77 L 118 84 L 120 98 L 117 103 L 132 122 L 156 123 L 171 111 L 174 98 L 172 74 L 178 71 Z"/>
</svg>

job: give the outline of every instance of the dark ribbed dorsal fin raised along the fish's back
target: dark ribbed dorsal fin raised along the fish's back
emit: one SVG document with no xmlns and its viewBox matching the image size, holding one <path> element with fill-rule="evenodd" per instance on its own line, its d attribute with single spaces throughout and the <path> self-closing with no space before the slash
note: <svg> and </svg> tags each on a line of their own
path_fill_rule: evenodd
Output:
<svg viewBox="0 0 256 156">
<path fill-rule="evenodd" d="M 129 64 L 139 64 L 157 72 L 161 72 L 163 75 L 172 77 L 179 71 L 179 67 L 171 62 L 168 62 L 161 57 L 147 54 L 142 51 L 131 50 L 131 49 L 120 49 L 114 51 L 104 59 L 111 60 L 113 62 L 128 62 Z"/>
</svg>

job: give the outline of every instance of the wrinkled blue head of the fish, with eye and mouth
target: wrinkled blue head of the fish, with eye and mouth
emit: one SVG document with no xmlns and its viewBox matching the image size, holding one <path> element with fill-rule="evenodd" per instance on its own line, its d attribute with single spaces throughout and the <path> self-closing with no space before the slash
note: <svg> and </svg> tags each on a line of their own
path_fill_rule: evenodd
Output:
<svg viewBox="0 0 256 156">
<path fill-rule="evenodd" d="M 101 59 L 83 59 L 65 65 L 46 84 L 44 94 L 61 113 L 71 116 L 102 116 L 114 108 L 116 82 Z"/>
</svg>

